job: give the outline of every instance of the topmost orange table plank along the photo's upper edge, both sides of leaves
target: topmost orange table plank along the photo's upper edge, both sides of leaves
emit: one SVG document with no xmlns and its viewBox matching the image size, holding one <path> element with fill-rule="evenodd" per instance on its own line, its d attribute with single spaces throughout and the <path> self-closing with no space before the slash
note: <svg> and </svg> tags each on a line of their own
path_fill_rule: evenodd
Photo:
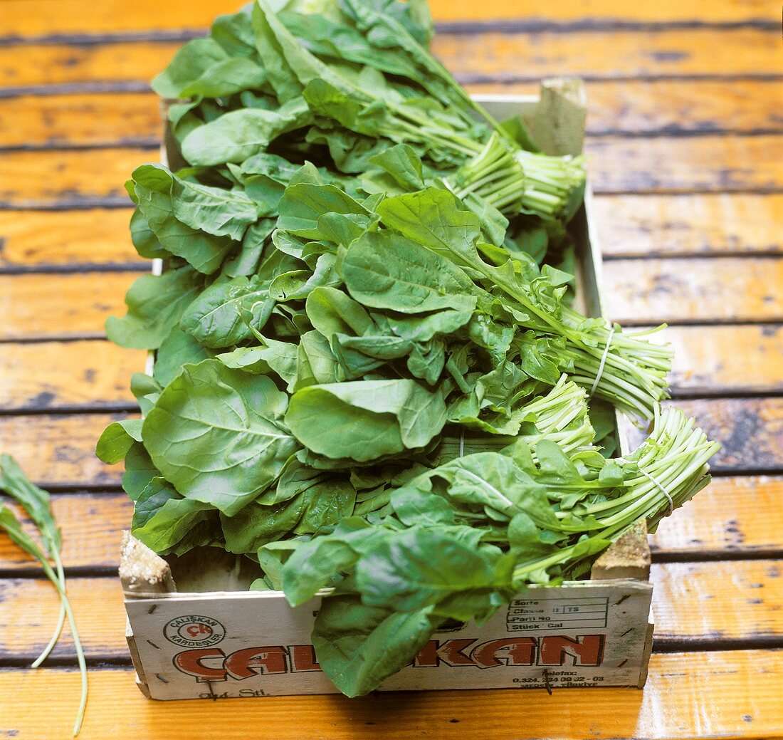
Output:
<svg viewBox="0 0 783 740">
<path fill-rule="evenodd" d="M 52 34 L 117 34 L 170 29 L 201 29 L 215 16 L 233 12 L 236 3 L 225 0 L 197 0 L 161 5 L 154 0 L 137 0 L 121 5 L 114 0 L 99 4 L 86 0 L 3 0 L 0 36 L 46 36 Z M 500 0 L 487 9 L 479 0 L 430 0 L 436 21 L 470 20 L 546 20 L 580 22 L 583 20 L 622 20 L 632 23 L 670 23 L 704 20 L 709 23 L 741 23 L 751 20 L 777 20 L 778 8 L 769 0 L 723 2 L 709 13 L 698 0 L 648 4 L 613 0 L 565 0 L 542 8 L 533 0 Z"/>
</svg>

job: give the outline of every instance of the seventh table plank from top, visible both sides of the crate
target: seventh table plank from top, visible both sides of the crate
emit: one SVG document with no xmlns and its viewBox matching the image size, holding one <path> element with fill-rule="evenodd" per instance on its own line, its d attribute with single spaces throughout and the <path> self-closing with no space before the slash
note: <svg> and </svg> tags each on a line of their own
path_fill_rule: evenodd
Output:
<svg viewBox="0 0 783 740">
<path fill-rule="evenodd" d="M 668 327 L 655 341 L 674 349 L 674 395 L 731 395 L 783 391 L 780 324 Z M 144 353 L 105 341 L 0 344 L 0 409 L 111 410 L 133 402 L 132 373 Z M 52 374 L 52 367 L 58 367 Z"/>
</svg>

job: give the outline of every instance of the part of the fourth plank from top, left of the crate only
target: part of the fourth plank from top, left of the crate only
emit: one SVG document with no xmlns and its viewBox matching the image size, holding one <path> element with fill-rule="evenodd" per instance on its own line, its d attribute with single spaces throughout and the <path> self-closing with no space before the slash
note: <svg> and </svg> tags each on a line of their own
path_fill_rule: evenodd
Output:
<svg viewBox="0 0 783 740">
<path fill-rule="evenodd" d="M 0 157 L 0 207 L 83 208 L 106 200 L 130 205 L 124 184 L 139 164 L 150 161 L 157 161 L 157 151 L 6 152 Z"/>
</svg>

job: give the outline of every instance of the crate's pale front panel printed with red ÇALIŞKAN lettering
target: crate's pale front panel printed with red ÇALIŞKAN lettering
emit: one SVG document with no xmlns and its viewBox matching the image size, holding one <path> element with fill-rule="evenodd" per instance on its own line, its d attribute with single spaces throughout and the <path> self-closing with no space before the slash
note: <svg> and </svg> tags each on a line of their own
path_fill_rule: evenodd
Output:
<svg viewBox="0 0 783 740">
<path fill-rule="evenodd" d="M 533 588 L 480 629 L 442 630 L 381 691 L 635 686 L 652 587 L 634 580 Z M 310 641 L 319 599 L 276 592 L 128 599 L 128 640 L 150 696 L 327 694 Z"/>
</svg>

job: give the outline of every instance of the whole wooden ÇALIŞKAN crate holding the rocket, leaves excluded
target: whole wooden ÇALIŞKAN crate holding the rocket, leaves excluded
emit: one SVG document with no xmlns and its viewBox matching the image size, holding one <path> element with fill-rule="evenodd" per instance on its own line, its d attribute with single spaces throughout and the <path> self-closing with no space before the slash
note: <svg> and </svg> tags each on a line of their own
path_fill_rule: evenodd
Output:
<svg viewBox="0 0 783 740">
<path fill-rule="evenodd" d="M 540 97 L 477 98 L 497 118 L 521 116 L 548 153 L 581 151 L 585 105 L 579 83 L 545 82 Z M 161 160 L 178 164 L 170 135 Z M 588 185 L 572 222 L 579 308 L 601 316 L 601 250 L 590 211 Z M 281 592 L 247 591 L 251 576 L 236 572 L 234 556 L 216 557 L 218 552 L 167 562 L 125 537 L 120 575 L 141 691 L 156 699 L 336 692 L 310 642 L 322 596 L 291 608 Z M 641 688 L 653 631 L 649 567 L 647 532 L 640 525 L 599 558 L 589 580 L 530 588 L 481 628 L 467 623 L 439 631 L 381 691 Z"/>
</svg>

